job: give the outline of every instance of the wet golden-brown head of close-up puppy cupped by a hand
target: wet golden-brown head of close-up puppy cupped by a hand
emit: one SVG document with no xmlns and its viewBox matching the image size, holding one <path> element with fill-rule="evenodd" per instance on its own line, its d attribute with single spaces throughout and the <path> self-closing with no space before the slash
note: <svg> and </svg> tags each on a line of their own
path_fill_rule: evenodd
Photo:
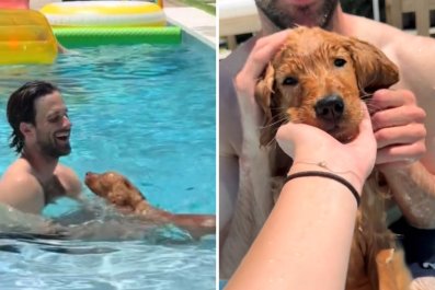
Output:
<svg viewBox="0 0 435 290">
<path fill-rule="evenodd" d="M 358 134 L 362 97 L 398 80 L 394 63 L 368 43 L 295 28 L 255 88 L 265 116 L 261 143 L 270 143 L 287 121 L 316 126 L 347 142 Z"/>
</svg>

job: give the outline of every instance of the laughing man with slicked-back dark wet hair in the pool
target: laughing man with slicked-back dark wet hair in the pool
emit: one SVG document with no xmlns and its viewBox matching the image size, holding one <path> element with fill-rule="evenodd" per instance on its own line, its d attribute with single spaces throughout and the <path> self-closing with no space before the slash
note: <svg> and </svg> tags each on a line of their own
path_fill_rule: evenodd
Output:
<svg viewBox="0 0 435 290">
<path fill-rule="evenodd" d="M 59 163 L 71 152 L 72 126 L 59 90 L 44 81 L 27 82 L 11 94 L 7 114 L 10 147 L 20 156 L 0 179 L 0 202 L 41 213 L 58 197 L 79 198 L 78 176 Z"/>
</svg>

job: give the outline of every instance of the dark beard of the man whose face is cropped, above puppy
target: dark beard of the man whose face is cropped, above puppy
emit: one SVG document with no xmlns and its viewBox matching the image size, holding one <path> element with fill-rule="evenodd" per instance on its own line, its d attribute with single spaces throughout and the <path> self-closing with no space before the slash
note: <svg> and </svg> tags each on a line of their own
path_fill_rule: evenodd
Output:
<svg viewBox="0 0 435 290">
<path fill-rule="evenodd" d="M 316 12 L 312 12 L 309 11 L 309 7 L 291 7 L 289 10 L 285 10 L 285 8 L 278 7 L 276 2 L 277 0 L 255 0 L 259 9 L 281 30 L 290 28 L 295 25 L 307 25 L 298 23 L 297 20 L 298 16 L 304 14 L 306 14 L 307 20 L 312 20 L 308 26 L 327 28 L 339 4 L 339 0 L 325 0 Z"/>
</svg>

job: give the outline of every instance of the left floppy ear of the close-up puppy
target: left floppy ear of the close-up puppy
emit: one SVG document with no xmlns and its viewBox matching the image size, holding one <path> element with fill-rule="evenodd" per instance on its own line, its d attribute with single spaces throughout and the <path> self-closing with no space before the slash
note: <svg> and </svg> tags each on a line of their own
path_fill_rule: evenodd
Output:
<svg viewBox="0 0 435 290">
<path fill-rule="evenodd" d="M 260 79 L 255 86 L 255 101 L 260 108 L 264 113 L 263 129 L 261 130 L 260 143 L 262 146 L 267 144 L 275 135 L 272 135 L 272 128 L 268 128 L 272 124 L 272 111 L 271 101 L 272 95 L 275 93 L 275 69 L 272 63 L 267 65 L 264 76 Z M 272 136 L 272 137 L 271 137 Z"/>
</svg>

